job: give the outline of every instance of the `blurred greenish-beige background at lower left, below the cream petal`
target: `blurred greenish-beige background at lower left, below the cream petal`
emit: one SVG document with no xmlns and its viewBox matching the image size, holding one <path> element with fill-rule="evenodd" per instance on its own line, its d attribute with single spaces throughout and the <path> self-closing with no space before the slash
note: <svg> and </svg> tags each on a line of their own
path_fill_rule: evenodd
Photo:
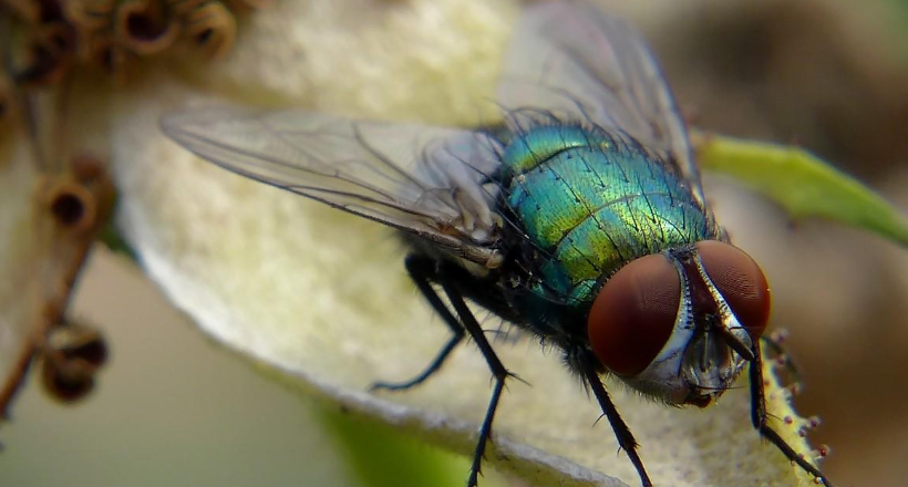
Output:
<svg viewBox="0 0 908 487">
<path fill-rule="evenodd" d="M 95 251 L 73 305 L 110 366 L 72 406 L 31 374 L 3 426 L 2 485 L 361 485 L 317 406 L 217 349 L 125 258 Z"/>
</svg>

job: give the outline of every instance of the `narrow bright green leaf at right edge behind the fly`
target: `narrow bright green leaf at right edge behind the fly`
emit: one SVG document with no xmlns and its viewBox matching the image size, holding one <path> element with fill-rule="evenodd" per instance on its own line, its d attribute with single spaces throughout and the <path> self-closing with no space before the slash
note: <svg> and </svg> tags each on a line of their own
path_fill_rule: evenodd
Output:
<svg viewBox="0 0 908 487">
<path fill-rule="evenodd" d="M 693 134 L 700 166 L 733 176 L 792 218 L 824 218 L 908 247 L 908 220 L 857 179 L 794 146 Z"/>
</svg>

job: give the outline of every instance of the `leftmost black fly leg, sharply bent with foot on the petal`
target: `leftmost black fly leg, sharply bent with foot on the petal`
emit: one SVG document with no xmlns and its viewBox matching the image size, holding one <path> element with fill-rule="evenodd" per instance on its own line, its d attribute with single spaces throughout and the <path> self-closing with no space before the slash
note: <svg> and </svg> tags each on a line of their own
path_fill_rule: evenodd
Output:
<svg viewBox="0 0 908 487">
<path fill-rule="evenodd" d="M 435 310 L 440 317 L 442 317 L 444 324 L 451 329 L 452 336 L 447 340 L 442 350 L 438 351 L 437 355 L 435 355 L 435 359 L 432 360 L 429 366 L 415 377 L 406 382 L 399 383 L 376 382 L 372 384 L 370 391 L 404 391 L 413 387 L 414 385 L 422 384 L 426 379 L 431 377 L 442 367 L 444 361 L 448 358 L 448 355 L 451 355 L 451 352 L 457 348 L 464 338 L 463 325 L 461 325 L 461 322 L 457 321 L 454 314 L 451 313 L 451 310 L 447 309 L 447 305 L 445 305 L 441 298 L 438 298 L 438 293 L 435 292 L 435 289 L 432 288 L 432 280 L 435 278 L 435 268 L 437 263 L 434 260 L 411 255 L 404 260 L 404 266 L 406 267 L 406 272 L 410 274 L 410 279 L 412 279 L 413 283 L 416 284 L 416 289 L 419 289 L 423 298 L 429 301 L 432 309 Z"/>
</svg>

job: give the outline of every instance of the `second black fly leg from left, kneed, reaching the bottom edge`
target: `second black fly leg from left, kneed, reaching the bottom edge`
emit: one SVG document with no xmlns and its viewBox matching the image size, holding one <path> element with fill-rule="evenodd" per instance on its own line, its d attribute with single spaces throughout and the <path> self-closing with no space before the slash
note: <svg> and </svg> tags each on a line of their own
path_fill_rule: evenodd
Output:
<svg viewBox="0 0 908 487">
<path fill-rule="evenodd" d="M 505 369 L 504 364 L 498 359 L 498 355 L 495 354 L 495 351 L 485 338 L 483 328 L 479 325 L 479 322 L 476 321 L 476 317 L 473 315 L 470 308 L 467 308 L 466 301 L 464 301 L 461 291 L 457 290 L 452 280 L 442 271 L 438 274 L 437 282 L 442 286 L 448 301 L 451 301 L 451 305 L 454 307 L 454 311 L 456 311 L 457 315 L 461 317 L 461 323 L 464 329 L 467 333 L 470 333 L 470 336 L 474 342 L 476 342 L 476 345 L 483 353 L 483 356 L 488 364 L 488 369 L 492 371 L 493 380 L 495 381 L 495 386 L 492 390 L 492 397 L 488 400 L 488 407 L 485 412 L 485 418 L 483 418 L 483 424 L 479 426 L 479 439 L 476 442 L 476 449 L 473 453 L 473 464 L 470 467 L 470 478 L 466 480 L 467 487 L 475 487 L 478 483 L 478 476 L 482 470 L 482 462 L 485 456 L 486 443 L 491 441 L 492 421 L 495 417 L 495 410 L 498 408 L 498 400 L 502 397 L 505 380 L 508 376 L 513 376 L 513 374 Z"/>
</svg>

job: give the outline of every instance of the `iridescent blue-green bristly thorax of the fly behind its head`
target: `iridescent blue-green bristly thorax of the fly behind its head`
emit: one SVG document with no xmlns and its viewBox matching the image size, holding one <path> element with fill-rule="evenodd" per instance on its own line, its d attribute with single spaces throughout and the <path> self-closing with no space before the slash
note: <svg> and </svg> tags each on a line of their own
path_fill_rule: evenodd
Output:
<svg viewBox="0 0 908 487">
<path fill-rule="evenodd" d="M 506 203 L 541 250 L 533 292 L 589 303 L 625 263 L 718 238 L 673 166 L 633 141 L 580 126 L 538 126 L 503 154 Z"/>
</svg>

